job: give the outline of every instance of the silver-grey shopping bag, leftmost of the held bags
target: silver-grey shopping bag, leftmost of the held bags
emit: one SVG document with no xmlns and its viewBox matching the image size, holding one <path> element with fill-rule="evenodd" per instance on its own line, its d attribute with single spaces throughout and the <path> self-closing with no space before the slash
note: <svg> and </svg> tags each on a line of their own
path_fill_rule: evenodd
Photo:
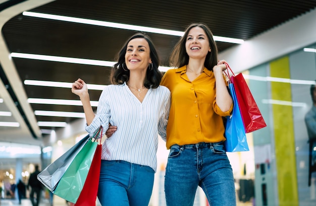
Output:
<svg viewBox="0 0 316 206">
<path fill-rule="evenodd" d="M 86 135 L 65 154 L 41 171 L 37 175 L 37 179 L 50 191 L 55 190 L 59 180 L 62 178 L 69 165 L 72 163 L 84 145 L 89 141 L 89 139 L 89 135 Z"/>
</svg>

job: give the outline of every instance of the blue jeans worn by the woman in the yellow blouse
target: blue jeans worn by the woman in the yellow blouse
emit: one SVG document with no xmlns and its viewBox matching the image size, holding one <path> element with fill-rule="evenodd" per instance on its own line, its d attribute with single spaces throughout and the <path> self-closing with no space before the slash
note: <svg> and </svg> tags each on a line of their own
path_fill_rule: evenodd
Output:
<svg viewBox="0 0 316 206">
<path fill-rule="evenodd" d="M 232 167 L 223 143 L 173 145 L 165 176 L 168 206 L 192 206 L 200 186 L 211 206 L 236 205 Z"/>
</svg>

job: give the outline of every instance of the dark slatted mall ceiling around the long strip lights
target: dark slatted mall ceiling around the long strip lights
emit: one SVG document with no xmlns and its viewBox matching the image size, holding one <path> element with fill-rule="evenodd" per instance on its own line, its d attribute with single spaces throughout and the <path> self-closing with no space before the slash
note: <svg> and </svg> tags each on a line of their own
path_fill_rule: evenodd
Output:
<svg viewBox="0 0 316 206">
<path fill-rule="evenodd" d="M 23 10 L 18 6 L 23 5 Z M 14 9 L 17 7 L 17 9 Z M 62 15 L 160 29 L 184 31 L 191 22 L 204 22 L 215 36 L 251 39 L 280 24 L 291 21 L 316 8 L 316 0 L 223 0 L 223 1 L 0 1 L 0 17 L 12 9 L 9 21 L 2 26 L 0 43 L 0 111 L 12 116 L 0 116 L 0 122 L 19 122 L 19 127 L 0 126 L 0 142 L 41 145 L 45 134 L 38 121 L 71 123 L 78 118 L 34 115 L 35 110 L 83 112 L 82 106 L 29 104 L 28 98 L 79 100 L 70 88 L 25 85 L 25 80 L 72 83 L 81 78 L 87 84 L 108 85 L 110 67 L 65 63 L 26 58 L 8 58 L 8 53 L 20 52 L 114 61 L 115 55 L 136 31 L 92 26 L 23 16 L 23 11 Z M 16 11 L 16 13 L 14 13 Z M 13 14 L 12 14 L 13 13 Z M 1 18 L 0 18 L 1 19 Z M 161 58 L 168 65 L 170 52 L 178 36 L 148 33 Z M 219 52 L 235 46 L 217 41 Z M 91 101 L 97 101 L 101 91 L 90 90 Z M 95 108 L 94 108 L 95 109 Z"/>
</svg>

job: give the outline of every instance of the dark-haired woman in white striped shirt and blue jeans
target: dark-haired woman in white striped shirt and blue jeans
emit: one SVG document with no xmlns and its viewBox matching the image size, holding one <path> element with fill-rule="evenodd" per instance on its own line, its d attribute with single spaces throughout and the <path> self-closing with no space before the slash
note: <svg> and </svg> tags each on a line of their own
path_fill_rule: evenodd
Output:
<svg viewBox="0 0 316 206">
<path fill-rule="evenodd" d="M 150 38 L 130 37 L 112 67 L 111 81 L 101 93 L 94 114 L 85 82 L 72 85 L 92 136 L 109 122 L 118 129 L 102 145 L 98 199 L 104 205 L 147 206 L 150 200 L 158 134 L 166 140 L 170 91 L 160 86 L 159 57 Z"/>
</svg>

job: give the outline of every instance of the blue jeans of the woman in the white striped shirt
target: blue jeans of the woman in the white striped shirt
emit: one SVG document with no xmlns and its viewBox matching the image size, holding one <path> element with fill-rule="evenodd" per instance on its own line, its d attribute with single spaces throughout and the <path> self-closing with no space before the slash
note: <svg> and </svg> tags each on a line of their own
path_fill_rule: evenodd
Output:
<svg viewBox="0 0 316 206">
<path fill-rule="evenodd" d="M 153 179 L 151 167 L 101 160 L 97 196 L 102 206 L 148 206 Z"/>
</svg>

